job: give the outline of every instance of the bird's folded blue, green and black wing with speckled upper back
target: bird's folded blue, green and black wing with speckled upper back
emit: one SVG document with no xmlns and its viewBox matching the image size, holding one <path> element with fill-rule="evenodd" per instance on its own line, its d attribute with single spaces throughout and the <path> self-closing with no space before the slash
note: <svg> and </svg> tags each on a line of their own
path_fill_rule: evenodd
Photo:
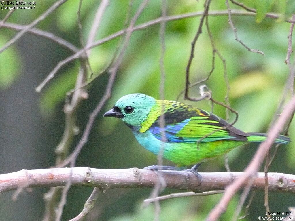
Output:
<svg viewBox="0 0 295 221">
<path fill-rule="evenodd" d="M 184 103 L 164 102 L 166 102 L 164 128 L 166 142 L 196 143 L 198 141 L 248 140 L 248 133 L 229 126 L 229 123 L 214 114 Z M 224 129 L 226 126 L 228 128 Z M 150 126 L 149 130 L 157 139 L 161 140 L 159 118 Z M 215 132 L 213 133 L 213 131 Z"/>
</svg>

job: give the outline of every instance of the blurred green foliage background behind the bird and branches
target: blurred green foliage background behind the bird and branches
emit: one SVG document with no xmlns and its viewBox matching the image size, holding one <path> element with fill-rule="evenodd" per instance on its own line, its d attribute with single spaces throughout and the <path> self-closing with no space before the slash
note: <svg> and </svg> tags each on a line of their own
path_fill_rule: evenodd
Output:
<svg viewBox="0 0 295 221">
<path fill-rule="evenodd" d="M 132 15 L 141 1 L 135 0 Z M 294 13 L 294 1 L 241 1 L 257 9 L 256 16 L 233 16 L 237 34 L 250 48 L 262 50 L 265 55 L 251 53 L 235 41 L 234 33 L 225 15 L 209 17 L 209 25 L 217 49 L 226 59 L 229 78 L 230 103 L 238 111 L 239 119 L 235 126 L 244 131 L 265 132 L 281 99 L 288 66 L 284 63 L 287 51 L 289 23 L 284 19 Z M 45 11 L 54 1 L 37 1 L 35 10 L 17 10 L 8 22 L 29 24 Z M 78 0 L 69 0 L 54 11 L 37 28 L 48 30 L 80 46 L 77 26 Z M 129 1 L 110 1 L 102 19 L 96 39 L 101 39 L 123 28 Z M 87 39 L 99 1 L 88 0 L 82 4 L 84 39 Z M 167 1 L 168 15 L 183 14 L 203 10 L 203 1 Z M 232 6 L 233 9 L 239 9 Z M 213 1 L 210 10 L 226 10 L 224 1 Z M 210 11 L 209 10 L 209 11 Z M 8 11 L 1 10 L 3 19 Z M 265 18 L 265 13 L 274 12 L 280 19 Z M 151 0 L 136 24 L 141 24 L 161 16 L 161 1 Z M 185 68 L 189 59 L 191 41 L 196 34 L 200 17 L 167 22 L 165 29 L 165 98 L 175 100 L 184 89 Z M 127 52 L 114 83 L 112 98 L 104 110 L 129 93 L 146 93 L 159 98 L 159 58 L 160 25 L 132 34 Z M 0 29 L 0 45 L 4 45 L 16 32 Z M 93 83 L 88 86 L 89 99 L 82 102 L 78 110 L 80 131 L 104 94 L 108 73 L 99 74 L 109 64 L 119 43 L 120 37 L 95 47 L 89 58 L 94 70 Z M 7 173 L 20 169 L 48 168 L 54 165 L 54 149 L 61 139 L 64 127 L 63 105 L 65 94 L 74 87 L 79 63 L 70 63 L 60 70 L 46 85 L 41 94 L 34 88 L 55 67 L 58 61 L 71 55 L 54 42 L 41 37 L 25 34 L 16 44 L 0 54 L 0 172 Z M 291 59 L 293 61 L 293 58 Z M 212 47 L 209 36 L 203 29 L 195 50 L 191 68 L 191 82 L 205 78 L 212 67 Z M 226 85 L 223 77 L 222 61 L 216 58 L 215 70 L 207 86 L 213 98 L 224 101 Z M 198 88 L 191 88 L 190 94 L 198 96 Z M 210 110 L 207 101 L 192 103 Z M 78 157 L 77 166 L 96 168 L 129 168 L 152 165 L 156 157 L 143 149 L 131 131 L 117 119 L 103 119 L 101 111 L 90 134 L 89 142 Z M 225 118 L 223 107 L 214 106 L 214 113 Z M 231 119 L 234 116 L 231 115 Z M 291 124 L 290 138 L 293 140 L 295 124 Z M 81 135 L 81 133 L 80 133 Z M 73 148 L 80 138 L 78 135 Z M 230 168 L 242 171 L 252 158 L 257 145 L 245 145 L 230 152 Z M 270 171 L 294 173 L 294 142 L 282 146 L 277 153 Z M 224 159 L 215 163 L 208 161 L 200 171 L 224 171 Z M 165 161 L 165 164 L 171 164 Z M 0 195 L 0 220 L 41 220 L 44 212 L 42 193 L 47 189 L 34 189 L 20 194 L 12 201 L 12 193 Z M 150 194 L 150 189 L 116 189 L 101 194 L 95 209 L 86 220 L 153 220 L 153 206 L 142 209 L 142 200 Z M 68 196 L 63 220 L 77 215 L 89 196 L 91 189 L 72 187 Z M 175 192 L 165 190 L 162 194 Z M 171 199 L 161 202 L 161 220 L 204 220 L 218 202 L 220 196 Z M 238 196 L 235 197 L 221 220 L 231 219 Z M 255 194 L 245 220 L 256 220 L 265 213 L 263 193 Z M 294 206 L 294 195 L 270 193 L 272 212 L 288 212 Z M 244 210 L 243 210 L 244 211 Z M 242 214 L 243 214 L 242 211 Z"/>
</svg>

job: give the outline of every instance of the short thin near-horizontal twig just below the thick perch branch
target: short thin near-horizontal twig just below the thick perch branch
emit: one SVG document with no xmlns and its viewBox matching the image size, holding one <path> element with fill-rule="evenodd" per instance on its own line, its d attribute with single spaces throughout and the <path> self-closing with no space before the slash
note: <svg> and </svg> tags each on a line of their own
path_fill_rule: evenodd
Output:
<svg viewBox="0 0 295 221">
<path fill-rule="evenodd" d="M 160 200 L 166 200 L 166 199 L 172 199 L 172 198 L 178 198 L 178 197 L 209 196 L 214 194 L 221 194 L 223 192 L 224 192 L 223 190 L 215 190 L 215 191 L 212 190 L 212 191 L 207 191 L 202 193 L 195 193 L 195 192 L 171 193 L 171 194 L 156 197 L 156 198 L 145 199 L 143 203 L 144 203 L 144 207 L 147 207 L 150 203 L 160 201 Z"/>
</svg>

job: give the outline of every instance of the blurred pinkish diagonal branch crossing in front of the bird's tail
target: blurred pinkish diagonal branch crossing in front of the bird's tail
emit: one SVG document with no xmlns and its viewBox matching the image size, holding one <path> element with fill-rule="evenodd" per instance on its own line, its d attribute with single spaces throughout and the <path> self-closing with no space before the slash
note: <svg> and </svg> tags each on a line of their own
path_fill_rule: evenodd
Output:
<svg viewBox="0 0 295 221">
<path fill-rule="evenodd" d="M 292 100 L 286 105 L 276 124 L 269 131 L 266 141 L 259 145 L 258 150 L 253 156 L 252 161 L 245 169 L 245 173 L 225 189 L 223 197 L 221 198 L 217 206 L 210 212 L 207 218 L 208 221 L 217 220 L 218 217 L 226 210 L 227 205 L 229 204 L 234 194 L 238 191 L 238 189 L 244 186 L 251 177 L 255 177 L 257 175 L 258 168 L 264 160 L 266 153 L 271 148 L 271 145 L 273 144 L 275 138 L 283 130 L 285 123 L 291 117 L 294 110 L 295 98 L 292 98 Z"/>
</svg>

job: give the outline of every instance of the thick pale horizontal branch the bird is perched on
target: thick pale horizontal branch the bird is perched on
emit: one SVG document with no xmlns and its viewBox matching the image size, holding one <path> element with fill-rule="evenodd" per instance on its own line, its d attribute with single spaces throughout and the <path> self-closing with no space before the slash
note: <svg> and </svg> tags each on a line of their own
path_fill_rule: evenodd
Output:
<svg viewBox="0 0 295 221">
<path fill-rule="evenodd" d="M 200 173 L 201 184 L 191 172 L 161 171 L 167 188 L 204 192 L 223 190 L 242 172 Z M 122 187 L 151 187 L 158 182 L 158 175 L 151 170 L 130 169 L 94 169 L 88 167 L 52 168 L 20 170 L 0 175 L 0 192 L 8 192 L 26 187 L 65 186 L 71 179 L 72 185 L 115 189 Z M 253 181 L 253 188 L 264 190 L 264 173 L 258 173 Z M 295 175 L 268 173 L 269 191 L 295 193 Z"/>
</svg>

